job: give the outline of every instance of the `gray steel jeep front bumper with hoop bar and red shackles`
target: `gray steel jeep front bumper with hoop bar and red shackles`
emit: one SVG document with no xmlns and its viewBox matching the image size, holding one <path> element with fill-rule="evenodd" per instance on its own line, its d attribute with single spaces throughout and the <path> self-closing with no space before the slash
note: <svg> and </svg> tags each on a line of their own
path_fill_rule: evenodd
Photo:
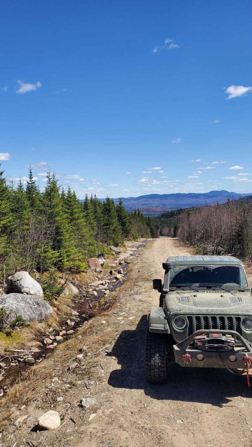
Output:
<svg viewBox="0 0 252 447">
<path fill-rule="evenodd" d="M 200 350 L 194 346 L 189 346 L 197 335 L 202 333 L 222 333 L 230 334 L 239 339 L 243 344 L 241 348 L 235 348 L 235 350 Z M 249 357 L 252 357 L 252 345 L 243 338 L 238 332 L 230 330 L 220 330 L 220 329 L 201 329 L 195 331 L 189 337 L 185 338 L 183 342 L 179 342 L 177 345 L 173 346 L 175 362 L 183 367 L 196 367 L 196 368 L 244 368 L 244 356 L 249 364 L 249 368 L 252 367 Z M 201 358 L 197 358 L 197 355 Z M 203 356 L 203 358 L 202 358 Z M 230 360 L 230 356 L 234 358 L 235 361 Z"/>
</svg>

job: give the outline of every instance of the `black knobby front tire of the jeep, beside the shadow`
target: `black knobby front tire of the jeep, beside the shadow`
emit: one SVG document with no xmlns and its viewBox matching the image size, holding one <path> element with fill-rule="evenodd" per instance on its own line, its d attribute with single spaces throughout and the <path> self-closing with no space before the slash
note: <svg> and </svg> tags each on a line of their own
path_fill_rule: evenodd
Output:
<svg viewBox="0 0 252 447">
<path fill-rule="evenodd" d="M 145 377 L 147 382 L 167 382 L 167 336 L 147 332 L 145 342 Z"/>
</svg>

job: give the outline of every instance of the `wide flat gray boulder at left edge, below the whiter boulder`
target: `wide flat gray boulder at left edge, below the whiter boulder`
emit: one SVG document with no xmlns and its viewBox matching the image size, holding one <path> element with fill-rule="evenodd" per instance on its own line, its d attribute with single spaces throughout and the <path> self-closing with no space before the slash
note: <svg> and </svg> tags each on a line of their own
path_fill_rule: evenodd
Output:
<svg viewBox="0 0 252 447">
<path fill-rule="evenodd" d="M 38 295 L 22 295 L 21 293 L 0 295 L 0 307 L 10 312 L 9 322 L 15 320 L 18 315 L 21 315 L 26 323 L 30 323 L 34 320 L 46 320 L 53 314 L 50 304 Z"/>
</svg>

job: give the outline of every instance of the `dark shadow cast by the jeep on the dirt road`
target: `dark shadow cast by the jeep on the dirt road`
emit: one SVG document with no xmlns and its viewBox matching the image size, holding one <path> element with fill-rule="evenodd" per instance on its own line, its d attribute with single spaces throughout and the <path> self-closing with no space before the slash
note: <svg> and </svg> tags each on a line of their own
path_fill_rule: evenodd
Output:
<svg viewBox="0 0 252 447">
<path fill-rule="evenodd" d="M 246 376 L 235 376 L 224 369 L 171 367 L 171 379 L 165 385 L 146 382 L 144 372 L 147 315 L 141 317 L 136 330 L 120 333 L 108 356 L 115 356 L 121 370 L 111 371 L 108 384 L 114 388 L 143 389 L 157 400 L 200 402 L 222 407 L 232 405 L 232 397 L 251 397 Z"/>
</svg>

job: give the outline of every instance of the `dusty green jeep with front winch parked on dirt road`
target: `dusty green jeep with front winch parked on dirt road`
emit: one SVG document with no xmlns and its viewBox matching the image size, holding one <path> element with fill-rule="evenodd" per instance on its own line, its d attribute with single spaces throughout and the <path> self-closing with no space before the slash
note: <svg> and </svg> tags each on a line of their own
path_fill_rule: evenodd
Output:
<svg viewBox="0 0 252 447">
<path fill-rule="evenodd" d="M 173 362 L 248 372 L 252 295 L 243 263 L 231 256 L 172 256 L 162 266 L 164 282 L 153 280 L 159 307 L 148 315 L 146 380 L 165 383 Z"/>
</svg>

